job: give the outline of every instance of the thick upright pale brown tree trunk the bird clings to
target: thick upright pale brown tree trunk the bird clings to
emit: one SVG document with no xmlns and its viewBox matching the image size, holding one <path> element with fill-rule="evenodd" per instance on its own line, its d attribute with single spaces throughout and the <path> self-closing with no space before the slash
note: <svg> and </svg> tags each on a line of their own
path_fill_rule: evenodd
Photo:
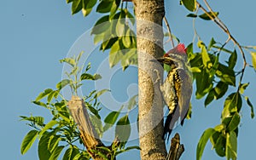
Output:
<svg viewBox="0 0 256 160">
<path fill-rule="evenodd" d="M 163 104 L 159 81 L 160 65 L 150 60 L 163 51 L 164 0 L 134 0 L 137 18 L 139 135 L 141 159 L 166 159 L 163 135 Z"/>
</svg>

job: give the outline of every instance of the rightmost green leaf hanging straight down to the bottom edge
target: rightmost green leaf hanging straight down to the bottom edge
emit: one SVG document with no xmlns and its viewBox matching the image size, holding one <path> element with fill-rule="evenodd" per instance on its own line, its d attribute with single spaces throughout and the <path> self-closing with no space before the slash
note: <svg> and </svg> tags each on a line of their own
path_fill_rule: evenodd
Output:
<svg viewBox="0 0 256 160">
<path fill-rule="evenodd" d="M 237 157 L 237 137 L 234 131 L 227 133 L 226 157 L 227 159 L 236 160 Z"/>
</svg>

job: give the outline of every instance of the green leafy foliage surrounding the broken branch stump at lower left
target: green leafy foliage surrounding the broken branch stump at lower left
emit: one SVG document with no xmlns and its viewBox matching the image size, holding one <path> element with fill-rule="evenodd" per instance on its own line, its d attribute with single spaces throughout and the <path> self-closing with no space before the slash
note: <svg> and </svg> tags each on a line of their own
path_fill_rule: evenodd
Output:
<svg viewBox="0 0 256 160">
<path fill-rule="evenodd" d="M 69 86 L 73 90 L 73 94 L 77 93 L 77 89 L 83 84 L 84 80 L 97 80 L 101 76 L 98 74 L 91 75 L 88 73 L 90 70 L 90 64 L 85 67 L 85 71 L 80 74 L 82 68 L 78 66 L 79 59 L 82 53 L 78 57 L 65 58 L 61 60 L 61 63 L 67 63 L 72 67 L 72 70 L 67 73 L 68 79 L 62 80 L 60 83 L 56 84 L 56 89 L 45 89 L 44 92 L 40 93 L 36 100 L 32 103 L 43 106 L 48 109 L 52 118 L 46 123 L 44 117 L 38 116 L 20 116 L 22 121 L 28 122 L 27 124 L 32 127 L 24 140 L 22 141 L 20 151 L 21 154 L 25 154 L 28 151 L 35 140 L 38 141 L 38 157 L 39 159 L 58 159 L 61 155 L 61 151 L 66 149 L 62 157 L 63 160 L 66 159 L 90 159 L 90 153 L 103 157 L 104 159 L 114 159 L 116 155 L 124 151 L 129 151 L 131 149 L 139 149 L 138 146 L 125 147 L 126 141 L 129 139 L 131 133 L 131 126 L 128 114 L 124 117 L 119 118 L 117 126 L 115 129 L 116 137 L 119 138 L 119 143 L 113 143 L 112 146 L 99 148 L 100 150 L 87 151 L 84 150 L 82 146 L 82 140 L 80 137 L 79 129 L 77 124 L 73 121 L 68 108 L 67 100 L 61 95 L 61 89 Z M 99 111 L 101 111 L 100 102 L 97 98 L 109 91 L 108 89 L 103 89 L 100 91 L 93 90 L 90 94 L 84 96 L 84 106 L 88 109 L 90 115 L 90 121 L 94 125 L 96 132 L 102 137 L 103 132 L 108 130 L 116 123 L 119 111 L 113 111 L 104 119 L 105 126 L 102 127 L 101 116 Z M 137 103 L 134 102 L 134 98 L 129 102 L 130 107 L 135 106 Z M 107 152 L 107 154 L 105 154 Z"/>
</svg>

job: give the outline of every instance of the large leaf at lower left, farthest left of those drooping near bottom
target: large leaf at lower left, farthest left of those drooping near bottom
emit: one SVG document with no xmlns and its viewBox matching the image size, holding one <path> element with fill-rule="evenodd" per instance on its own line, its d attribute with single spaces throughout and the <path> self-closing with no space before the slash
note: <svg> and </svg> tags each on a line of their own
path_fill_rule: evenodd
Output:
<svg viewBox="0 0 256 160">
<path fill-rule="evenodd" d="M 22 144 L 20 147 L 21 154 L 25 154 L 26 151 L 28 151 L 31 148 L 32 144 L 37 139 L 37 136 L 38 136 L 37 130 L 31 130 L 26 134 L 26 136 L 22 140 Z"/>
</svg>

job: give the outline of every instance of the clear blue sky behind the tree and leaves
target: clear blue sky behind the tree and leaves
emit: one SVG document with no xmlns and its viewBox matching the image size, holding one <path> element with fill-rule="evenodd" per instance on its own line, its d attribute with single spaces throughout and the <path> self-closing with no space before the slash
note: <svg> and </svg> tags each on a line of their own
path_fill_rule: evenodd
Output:
<svg viewBox="0 0 256 160">
<path fill-rule="evenodd" d="M 231 33 L 244 45 L 256 45 L 256 19 L 253 0 L 245 1 L 214 1 L 210 2 L 213 9 L 217 9 L 219 17 L 230 28 Z M 172 7 L 171 7 L 172 6 Z M 166 1 L 166 17 L 171 22 L 172 32 L 186 45 L 192 41 L 194 32 L 192 30 L 192 19 L 186 18 L 189 12 L 178 5 L 178 0 L 171 3 Z M 55 83 L 61 81 L 62 66 L 59 60 L 65 58 L 73 43 L 88 31 L 95 23 L 98 14 L 90 14 L 84 18 L 81 13 L 71 15 L 70 5 L 64 0 L 59 1 L 3 1 L 0 5 L 0 42 L 1 63 L 0 79 L 1 89 L 1 133 L 0 146 L 3 159 L 38 159 L 37 144 L 32 146 L 24 156 L 20 154 L 20 144 L 23 137 L 29 131 L 25 123 L 19 121 L 19 116 L 33 115 L 45 116 L 49 119 L 49 112 L 43 108 L 34 106 L 31 100 L 44 89 L 55 88 Z M 224 42 L 226 35 L 211 21 L 197 20 L 199 34 L 204 41 L 211 37 L 218 37 L 218 41 Z M 84 43 L 86 45 L 86 43 Z M 95 51 L 96 52 L 96 51 Z M 96 53 L 98 60 L 105 60 L 107 54 Z M 92 70 L 97 66 L 93 59 Z M 241 57 L 240 57 L 241 58 Z M 250 62 L 250 54 L 247 53 Z M 241 66 L 239 60 L 237 68 Z M 136 69 L 131 67 L 127 72 L 118 70 L 110 83 L 113 97 L 119 101 L 126 101 L 129 97 L 129 89 L 124 93 L 131 83 L 137 82 Z M 125 77 L 125 78 L 124 78 Z M 129 78 L 126 78 L 129 77 Z M 253 105 L 255 100 L 256 74 L 247 68 L 244 83 L 251 82 L 245 95 L 248 95 Z M 115 82 L 121 81 L 127 86 L 118 90 Z M 90 87 L 92 88 L 92 87 Z M 134 89 L 134 88 L 132 88 Z M 223 100 L 205 108 L 203 100 L 195 100 L 192 97 L 193 117 L 184 123 L 183 128 L 178 127 L 185 152 L 182 159 L 195 159 L 195 148 L 201 134 L 207 128 L 214 127 L 219 123 L 219 117 L 223 107 Z M 253 144 L 256 134 L 256 120 L 250 118 L 247 105 L 243 104 L 241 110 L 241 128 L 238 137 L 238 159 L 251 159 L 256 151 Z M 137 141 L 131 142 L 133 145 Z M 208 144 L 204 151 L 203 159 L 220 159 Z M 119 159 L 130 159 L 130 156 L 138 159 L 138 151 L 125 153 Z"/>
</svg>

